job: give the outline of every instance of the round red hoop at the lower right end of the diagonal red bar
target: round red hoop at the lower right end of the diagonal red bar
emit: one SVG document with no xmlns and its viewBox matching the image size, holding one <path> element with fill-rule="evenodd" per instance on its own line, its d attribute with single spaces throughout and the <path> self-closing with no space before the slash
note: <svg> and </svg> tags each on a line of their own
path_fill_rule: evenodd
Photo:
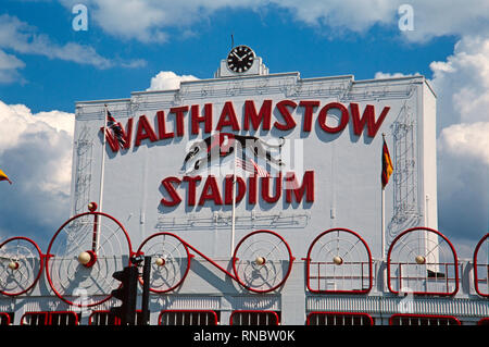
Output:
<svg viewBox="0 0 489 347">
<path fill-rule="evenodd" d="M 250 292 L 267 293 L 287 281 L 292 253 L 285 239 L 271 231 L 256 231 L 236 246 L 233 270 L 240 285 Z"/>
</svg>

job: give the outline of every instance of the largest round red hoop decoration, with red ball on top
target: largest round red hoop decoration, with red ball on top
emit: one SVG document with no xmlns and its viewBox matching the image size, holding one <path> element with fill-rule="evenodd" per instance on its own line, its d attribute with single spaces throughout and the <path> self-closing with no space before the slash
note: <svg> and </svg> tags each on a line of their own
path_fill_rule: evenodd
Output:
<svg viewBox="0 0 489 347">
<path fill-rule="evenodd" d="M 89 203 L 90 212 L 67 220 L 48 247 L 49 285 L 68 305 L 91 307 L 110 299 L 121 285 L 113 273 L 127 267 L 133 255 L 124 226 L 96 207 Z"/>
</svg>

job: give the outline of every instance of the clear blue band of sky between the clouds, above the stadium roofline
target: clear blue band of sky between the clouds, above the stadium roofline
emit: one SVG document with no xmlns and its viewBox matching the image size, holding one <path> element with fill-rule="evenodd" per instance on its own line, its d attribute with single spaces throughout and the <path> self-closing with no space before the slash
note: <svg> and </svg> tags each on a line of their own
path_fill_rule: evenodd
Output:
<svg viewBox="0 0 489 347">
<path fill-rule="evenodd" d="M 0 92 L 4 102 L 26 103 L 34 112 L 73 112 L 76 100 L 127 97 L 130 91 L 148 88 L 151 77 L 161 70 L 212 77 L 230 48 L 231 34 L 236 44 L 253 47 L 272 73 L 299 71 L 303 77 L 354 74 L 356 79 L 373 78 L 378 71 L 418 72 L 430 77 L 429 63 L 443 60 L 456 41 L 448 36 L 428 45 L 412 45 L 399 35 L 396 22 L 358 34 L 335 34 L 336 28 L 306 25 L 289 11 L 271 5 L 263 13 L 222 9 L 195 25 L 168 28 L 166 42 L 141 42 L 104 33 L 93 23 L 90 8 L 88 30 L 74 30 L 76 14 L 70 7 L 55 1 L 8 0 L 7 4 L 3 13 L 28 23 L 53 44 L 89 46 L 114 61 L 143 60 L 134 69 L 104 69 L 40 54 L 18 55 L 25 62 L 21 70 L 25 82 L 2 85 Z"/>
</svg>

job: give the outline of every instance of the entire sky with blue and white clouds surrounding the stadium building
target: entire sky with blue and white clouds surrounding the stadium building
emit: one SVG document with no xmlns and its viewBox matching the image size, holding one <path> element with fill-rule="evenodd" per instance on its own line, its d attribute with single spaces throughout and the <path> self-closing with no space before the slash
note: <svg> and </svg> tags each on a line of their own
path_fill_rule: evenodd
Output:
<svg viewBox="0 0 489 347">
<path fill-rule="evenodd" d="M 404 3 L 413 30 L 400 29 Z M 73 28 L 76 4 L 87 9 L 87 30 Z M 210 78 L 231 34 L 271 73 L 429 78 L 439 226 L 472 251 L 489 214 L 489 5 L 479 0 L 2 0 L 0 169 L 14 185 L 0 183 L 0 239 L 27 234 L 46 244 L 39 235 L 66 219 L 76 101 L 129 97 L 162 71 Z"/>
</svg>

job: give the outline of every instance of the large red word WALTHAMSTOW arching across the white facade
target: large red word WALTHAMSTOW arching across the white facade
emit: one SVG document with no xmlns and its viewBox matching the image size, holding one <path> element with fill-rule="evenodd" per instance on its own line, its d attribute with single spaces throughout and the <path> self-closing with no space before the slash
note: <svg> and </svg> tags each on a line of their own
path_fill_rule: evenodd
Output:
<svg viewBox="0 0 489 347">
<path fill-rule="evenodd" d="M 277 120 L 274 122 L 273 126 L 283 132 L 293 129 L 297 125 L 293 117 L 293 112 L 298 107 L 301 107 L 304 109 L 302 131 L 309 133 L 312 131 L 315 111 L 319 108 L 319 106 L 321 101 L 318 100 L 301 100 L 299 103 L 296 103 L 292 100 L 278 101 L 276 103 L 276 110 L 280 116 L 277 115 Z M 330 110 L 334 109 L 339 110 L 338 124 L 336 126 L 328 122 L 331 117 Z M 213 128 L 213 103 L 205 103 L 203 106 L 202 113 L 200 113 L 199 104 L 193 104 L 190 108 L 188 106 L 181 106 L 171 108 L 168 111 L 168 114 L 175 115 L 175 126 L 173 132 L 166 129 L 167 119 L 165 117 L 165 111 L 156 112 L 158 137 L 147 116 L 141 115 L 138 120 L 135 146 L 140 146 L 141 141 L 145 139 L 149 139 L 153 142 L 156 140 L 173 138 L 175 136 L 183 137 L 185 135 L 185 115 L 189 110 L 191 113 L 189 128 L 192 135 L 198 135 L 201 128 L 203 129 L 203 133 L 206 134 L 212 133 L 213 129 L 221 132 L 224 127 L 230 127 L 233 132 L 239 132 L 241 129 L 241 124 L 238 122 L 233 101 L 226 101 L 224 103 L 215 128 Z M 363 113 L 361 113 L 360 106 L 356 102 L 350 103 L 350 110 L 340 102 L 329 102 L 317 113 L 317 123 L 324 132 L 337 134 L 344 129 L 351 116 L 353 133 L 356 136 L 361 136 L 364 128 L 366 128 L 366 135 L 369 137 L 375 137 L 389 110 L 390 107 L 384 107 L 380 115 L 376 119 L 374 104 L 365 106 Z M 259 110 L 256 110 L 254 100 L 246 100 L 243 104 L 242 129 L 259 131 L 261 127 L 262 131 L 269 131 L 272 126 L 272 114 L 273 100 L 263 100 Z M 123 137 L 126 140 L 124 148 L 126 149 L 130 147 L 133 123 L 133 119 L 129 119 L 126 127 L 122 127 Z M 120 150 L 121 145 L 116 140 L 113 133 L 108 132 L 105 134 L 105 139 L 112 151 L 116 152 Z"/>
</svg>

